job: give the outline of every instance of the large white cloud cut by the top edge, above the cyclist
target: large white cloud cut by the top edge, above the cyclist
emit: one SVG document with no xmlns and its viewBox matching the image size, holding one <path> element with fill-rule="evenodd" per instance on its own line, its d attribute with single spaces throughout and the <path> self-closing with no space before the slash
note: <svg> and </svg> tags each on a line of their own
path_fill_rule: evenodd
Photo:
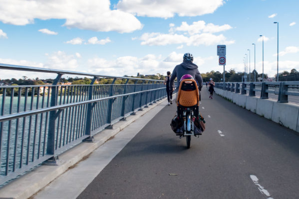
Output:
<svg viewBox="0 0 299 199">
<path fill-rule="evenodd" d="M 213 13 L 225 0 L 120 0 L 116 7 L 138 16 L 169 18 Z"/>
</svg>

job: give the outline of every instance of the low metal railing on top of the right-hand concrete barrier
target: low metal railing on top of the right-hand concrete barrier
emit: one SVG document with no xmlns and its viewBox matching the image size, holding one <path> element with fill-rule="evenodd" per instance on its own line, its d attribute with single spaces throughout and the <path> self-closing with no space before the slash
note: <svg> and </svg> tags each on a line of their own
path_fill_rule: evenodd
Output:
<svg viewBox="0 0 299 199">
<path fill-rule="evenodd" d="M 289 82 L 226 82 L 215 83 L 215 87 L 227 91 L 276 99 L 277 102 L 299 103 L 299 81 Z"/>
</svg>

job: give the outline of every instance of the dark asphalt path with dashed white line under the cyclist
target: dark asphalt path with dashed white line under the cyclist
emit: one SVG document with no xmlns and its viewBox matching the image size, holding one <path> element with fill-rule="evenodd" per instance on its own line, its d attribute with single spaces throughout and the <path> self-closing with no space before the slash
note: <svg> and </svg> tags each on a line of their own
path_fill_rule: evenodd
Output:
<svg viewBox="0 0 299 199">
<path fill-rule="evenodd" d="M 78 199 L 297 198 L 298 134 L 217 95 L 209 99 L 205 87 L 201 93 L 207 130 L 190 149 L 169 126 L 175 105 L 165 106 Z M 52 198 L 50 187 L 33 198 Z M 61 198 L 72 192 L 61 190 Z"/>
</svg>

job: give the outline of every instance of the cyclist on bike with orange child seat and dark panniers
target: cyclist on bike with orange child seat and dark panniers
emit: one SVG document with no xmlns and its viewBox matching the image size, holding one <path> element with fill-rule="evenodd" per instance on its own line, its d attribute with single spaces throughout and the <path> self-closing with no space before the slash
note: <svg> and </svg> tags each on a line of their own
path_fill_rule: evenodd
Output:
<svg viewBox="0 0 299 199">
<path fill-rule="evenodd" d="M 177 65 L 170 78 L 170 89 L 174 90 L 174 79 L 177 77 L 177 115 L 172 119 L 171 127 L 176 135 L 186 136 L 187 148 L 190 148 L 191 135 L 201 135 L 204 118 L 199 113 L 200 90 L 203 80 L 198 66 L 193 63 L 193 55 L 185 53 L 183 63 Z"/>
</svg>

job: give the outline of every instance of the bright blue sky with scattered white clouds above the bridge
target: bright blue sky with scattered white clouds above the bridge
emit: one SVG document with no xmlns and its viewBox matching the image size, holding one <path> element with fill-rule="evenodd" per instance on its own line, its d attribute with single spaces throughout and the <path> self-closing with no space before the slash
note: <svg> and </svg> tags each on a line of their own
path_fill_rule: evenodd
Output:
<svg viewBox="0 0 299 199">
<path fill-rule="evenodd" d="M 172 71 L 185 52 L 201 73 L 223 72 L 217 44 L 227 45 L 226 70 L 299 70 L 299 0 L 0 0 L 0 63 L 136 75 Z M 250 49 L 250 57 L 249 51 Z M 249 61 L 250 59 L 250 61 Z M 2 71 L 0 79 L 54 77 Z"/>
</svg>

